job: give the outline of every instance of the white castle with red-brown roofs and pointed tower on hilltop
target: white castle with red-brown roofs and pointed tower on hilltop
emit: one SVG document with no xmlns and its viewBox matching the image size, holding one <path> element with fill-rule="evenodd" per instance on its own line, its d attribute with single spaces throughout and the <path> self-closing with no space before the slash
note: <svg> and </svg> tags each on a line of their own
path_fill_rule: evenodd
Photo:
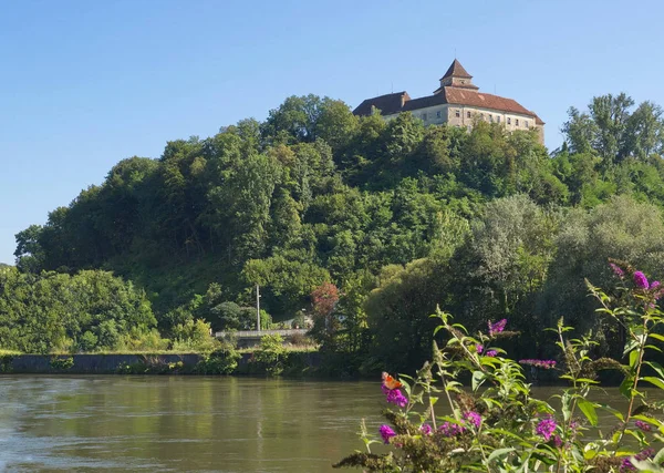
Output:
<svg viewBox="0 0 664 473">
<path fill-rule="evenodd" d="M 535 127 L 540 143 L 544 142 L 544 122 L 535 112 L 512 99 L 479 92 L 479 88 L 473 84 L 473 75 L 456 59 L 440 78 L 440 86 L 433 95 L 411 99 L 405 91 L 391 93 L 366 99 L 353 113 L 371 115 L 375 110 L 380 110 L 385 120 L 401 112 L 412 112 L 426 125 L 447 123 L 468 131 L 478 119 L 500 123 L 508 131 Z"/>
</svg>

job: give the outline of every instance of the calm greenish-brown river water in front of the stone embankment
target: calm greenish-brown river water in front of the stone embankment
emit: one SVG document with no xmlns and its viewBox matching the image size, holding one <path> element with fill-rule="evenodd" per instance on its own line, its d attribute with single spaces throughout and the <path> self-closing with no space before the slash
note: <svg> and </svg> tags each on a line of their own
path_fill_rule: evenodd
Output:
<svg viewBox="0 0 664 473">
<path fill-rule="evenodd" d="M 0 471 L 332 472 L 383 407 L 380 381 L 3 376 Z"/>
</svg>

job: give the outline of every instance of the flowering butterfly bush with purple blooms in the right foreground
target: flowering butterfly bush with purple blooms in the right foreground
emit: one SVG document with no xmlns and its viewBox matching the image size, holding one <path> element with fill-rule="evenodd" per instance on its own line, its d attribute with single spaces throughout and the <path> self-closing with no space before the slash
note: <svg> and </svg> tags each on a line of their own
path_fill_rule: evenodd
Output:
<svg viewBox="0 0 664 473">
<path fill-rule="evenodd" d="M 650 359 L 662 351 L 664 341 L 664 313 L 656 306 L 663 291 L 631 266 L 614 270 L 623 278 L 614 292 L 589 287 L 600 304 L 598 312 L 624 330 L 622 362 L 593 357 L 592 332 L 572 338 L 573 329 L 560 319 L 552 330 L 559 361 L 517 363 L 499 348 L 515 335 L 505 330 L 506 320 L 489 321 L 488 332 L 471 335 L 438 309 L 432 317 L 439 321 L 436 332 L 444 332 L 447 341 L 442 348 L 434 343 L 432 362 L 398 381 L 383 373 L 386 401 L 400 408 L 386 409 L 387 423 L 378 429 L 387 453 L 372 452 L 381 441 L 362 422 L 365 452 L 356 451 L 334 466 L 429 473 L 663 471 L 664 422 L 657 415 L 662 402 L 642 387 L 645 382 L 664 389 L 664 368 Z M 560 380 L 569 385 L 553 397 L 559 409 L 536 397 L 523 364 L 531 370 L 560 367 Z M 606 369 L 624 379 L 620 410 L 594 401 L 594 391 L 602 391 L 598 371 Z M 470 389 L 461 384 L 465 379 L 471 381 Z M 599 425 L 599 412 L 618 422 L 613 428 L 610 420 Z"/>
</svg>

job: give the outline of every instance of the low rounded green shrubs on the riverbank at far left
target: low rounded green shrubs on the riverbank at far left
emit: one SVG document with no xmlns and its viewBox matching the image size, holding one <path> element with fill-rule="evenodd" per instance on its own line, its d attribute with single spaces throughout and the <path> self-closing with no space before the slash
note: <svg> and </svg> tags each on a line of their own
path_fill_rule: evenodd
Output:
<svg viewBox="0 0 664 473">
<path fill-rule="evenodd" d="M 145 292 L 111 273 L 0 271 L 0 346 L 4 349 L 110 350 L 155 325 Z"/>
</svg>

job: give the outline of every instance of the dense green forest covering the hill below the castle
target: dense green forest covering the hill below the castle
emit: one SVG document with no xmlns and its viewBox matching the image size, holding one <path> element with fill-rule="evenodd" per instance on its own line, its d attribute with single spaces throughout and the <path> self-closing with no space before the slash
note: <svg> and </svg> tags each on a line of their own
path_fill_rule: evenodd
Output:
<svg viewBox="0 0 664 473">
<path fill-rule="evenodd" d="M 266 319 L 313 316 L 339 370 L 417 367 L 436 305 L 469 328 L 508 318 L 517 356 L 542 354 L 561 316 L 608 351 L 618 335 L 584 278 L 609 285 L 609 258 L 662 276 L 662 109 L 598 96 L 562 132 L 549 153 L 535 131 L 385 122 L 308 95 L 262 123 L 168 142 L 17 235 L 17 267 L 0 269 L 0 347 L 126 346 L 132 330 L 174 338 L 196 320 L 251 328 L 260 285 Z M 112 287 L 113 304 L 68 302 L 91 284 Z"/>
</svg>

